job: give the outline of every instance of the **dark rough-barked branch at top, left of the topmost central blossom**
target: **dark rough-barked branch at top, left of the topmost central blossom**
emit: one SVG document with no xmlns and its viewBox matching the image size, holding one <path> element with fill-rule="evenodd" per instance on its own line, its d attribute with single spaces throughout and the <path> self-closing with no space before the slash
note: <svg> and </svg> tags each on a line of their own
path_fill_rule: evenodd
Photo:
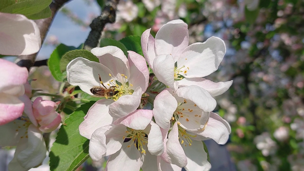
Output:
<svg viewBox="0 0 304 171">
<path fill-rule="evenodd" d="M 85 40 L 84 49 L 91 51 L 94 47 L 97 47 L 105 24 L 115 22 L 116 6 L 118 2 L 119 0 L 108 0 L 105 3 L 105 8 L 102 10 L 101 15 L 93 19 L 90 24 L 92 30 L 90 31 L 87 40 Z"/>
</svg>

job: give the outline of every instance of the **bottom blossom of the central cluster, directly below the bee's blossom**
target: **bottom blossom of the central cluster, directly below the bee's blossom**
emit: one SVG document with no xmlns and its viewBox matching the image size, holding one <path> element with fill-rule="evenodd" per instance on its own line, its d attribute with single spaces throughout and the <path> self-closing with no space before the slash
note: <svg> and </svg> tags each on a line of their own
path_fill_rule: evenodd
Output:
<svg viewBox="0 0 304 171">
<path fill-rule="evenodd" d="M 157 171 L 157 155 L 164 152 L 164 143 L 152 117 L 152 110 L 136 110 L 96 129 L 89 144 L 91 158 L 99 161 L 109 155 L 106 171 Z"/>
</svg>

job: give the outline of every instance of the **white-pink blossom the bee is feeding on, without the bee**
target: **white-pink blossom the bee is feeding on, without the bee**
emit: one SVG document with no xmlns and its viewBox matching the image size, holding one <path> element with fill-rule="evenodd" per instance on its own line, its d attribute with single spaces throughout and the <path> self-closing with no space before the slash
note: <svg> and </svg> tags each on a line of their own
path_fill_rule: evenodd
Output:
<svg viewBox="0 0 304 171">
<path fill-rule="evenodd" d="M 128 51 L 126 58 L 123 51 L 114 46 L 97 47 L 91 52 L 99 58 L 100 63 L 85 58 L 72 60 L 67 65 L 67 81 L 91 95 L 93 86 L 103 85 L 106 88 L 115 87 L 115 94 L 98 100 L 79 126 L 80 134 L 89 139 L 97 128 L 112 124 L 113 118 L 134 112 L 149 81 L 147 64 L 141 55 Z"/>
</svg>

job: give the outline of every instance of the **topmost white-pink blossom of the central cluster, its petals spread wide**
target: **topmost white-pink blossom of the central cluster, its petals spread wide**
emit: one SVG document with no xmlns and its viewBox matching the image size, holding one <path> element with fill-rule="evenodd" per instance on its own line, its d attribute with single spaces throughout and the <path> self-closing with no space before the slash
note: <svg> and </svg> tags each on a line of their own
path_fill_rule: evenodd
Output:
<svg viewBox="0 0 304 171">
<path fill-rule="evenodd" d="M 144 57 L 157 79 L 173 91 L 181 85 L 198 85 L 211 96 L 223 94 L 232 81 L 215 83 L 201 77 L 219 67 L 226 52 L 224 41 L 210 37 L 204 43 L 188 46 L 187 27 L 186 23 L 178 19 L 164 24 L 155 39 L 150 34 L 151 29 L 143 32 L 141 46 Z"/>
</svg>

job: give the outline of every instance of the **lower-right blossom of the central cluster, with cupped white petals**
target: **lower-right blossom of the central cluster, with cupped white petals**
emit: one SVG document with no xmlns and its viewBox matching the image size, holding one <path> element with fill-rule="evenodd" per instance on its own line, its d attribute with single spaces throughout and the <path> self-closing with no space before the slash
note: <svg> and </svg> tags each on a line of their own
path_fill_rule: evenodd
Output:
<svg viewBox="0 0 304 171">
<path fill-rule="evenodd" d="M 212 138 L 218 144 L 225 144 L 231 132 L 226 120 L 211 112 L 215 107 L 215 99 L 197 85 L 181 87 L 175 92 L 164 89 L 159 93 L 153 108 L 155 122 L 162 128 L 165 143 L 159 163 L 164 160 L 191 171 L 210 169 L 201 141 Z"/>
</svg>

